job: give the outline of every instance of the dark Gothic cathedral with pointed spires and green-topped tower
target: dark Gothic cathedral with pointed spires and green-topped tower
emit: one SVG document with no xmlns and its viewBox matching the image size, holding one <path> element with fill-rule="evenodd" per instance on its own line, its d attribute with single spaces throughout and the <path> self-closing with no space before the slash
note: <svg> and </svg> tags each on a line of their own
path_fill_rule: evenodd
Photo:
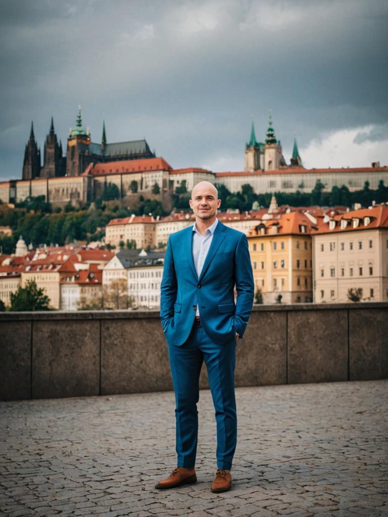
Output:
<svg viewBox="0 0 388 517">
<path fill-rule="evenodd" d="M 82 126 L 81 107 L 79 107 L 76 126 L 70 128 L 67 138 L 66 156 L 63 156 L 62 142 L 54 131 L 51 117 L 49 134 L 44 142 L 43 166 L 40 149 L 35 140 L 34 124 L 31 124 L 29 140 L 24 151 L 22 179 L 55 178 L 61 176 L 80 176 L 89 164 L 123 160 L 155 158 L 146 140 L 107 143 L 105 121 L 102 125 L 101 143 L 94 143 L 88 128 Z"/>
</svg>

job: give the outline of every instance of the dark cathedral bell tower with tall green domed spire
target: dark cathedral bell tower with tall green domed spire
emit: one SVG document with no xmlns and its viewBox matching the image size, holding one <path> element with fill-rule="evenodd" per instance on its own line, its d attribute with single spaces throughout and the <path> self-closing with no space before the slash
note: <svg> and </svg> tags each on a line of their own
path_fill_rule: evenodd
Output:
<svg viewBox="0 0 388 517">
<path fill-rule="evenodd" d="M 81 106 L 78 107 L 75 128 L 70 128 L 67 138 L 66 175 L 79 176 L 92 161 L 89 155 L 91 138 L 89 130 L 82 127 Z"/>
</svg>

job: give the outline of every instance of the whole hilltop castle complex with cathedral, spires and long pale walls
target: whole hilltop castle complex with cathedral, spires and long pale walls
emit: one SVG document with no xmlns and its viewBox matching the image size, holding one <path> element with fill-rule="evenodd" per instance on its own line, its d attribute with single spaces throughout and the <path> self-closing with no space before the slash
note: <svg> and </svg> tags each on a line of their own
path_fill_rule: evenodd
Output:
<svg viewBox="0 0 388 517">
<path fill-rule="evenodd" d="M 338 169 L 305 169 L 296 140 L 290 164 L 282 154 L 270 115 L 264 142 L 256 139 L 255 125 L 251 124 L 250 138 L 245 145 L 244 171 L 212 172 L 202 168 L 173 169 L 163 158 L 156 157 L 145 139 L 108 143 L 105 122 L 101 143 L 93 143 L 88 128 L 82 125 L 79 108 L 76 125 L 70 128 L 66 156 L 62 143 L 55 134 L 51 119 L 50 131 L 44 142 L 43 165 L 35 141 L 34 127 L 25 148 L 21 180 L 0 183 L 0 200 L 18 203 L 28 196 L 43 195 L 46 201 L 64 206 L 82 206 L 94 201 L 109 185 L 116 185 L 122 198 L 132 194 L 155 195 L 167 207 L 171 194 L 185 185 L 190 191 L 199 181 L 223 184 L 231 192 L 238 192 L 245 184 L 257 193 L 311 192 L 317 182 L 323 190 L 345 185 L 350 191 L 363 188 L 365 181 L 371 189 L 379 182 L 388 185 L 388 167 L 373 163 L 371 167 Z"/>
</svg>

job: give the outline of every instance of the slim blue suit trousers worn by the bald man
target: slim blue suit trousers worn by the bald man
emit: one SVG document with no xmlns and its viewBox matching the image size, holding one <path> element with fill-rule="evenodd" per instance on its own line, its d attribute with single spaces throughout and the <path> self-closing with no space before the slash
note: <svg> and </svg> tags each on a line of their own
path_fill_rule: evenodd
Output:
<svg viewBox="0 0 388 517">
<path fill-rule="evenodd" d="M 176 404 L 177 466 L 193 468 L 196 463 L 199 375 L 205 361 L 216 412 L 217 468 L 230 470 L 237 439 L 234 397 L 236 340 L 217 345 L 195 321 L 182 346 L 169 345 L 169 356 Z"/>
</svg>

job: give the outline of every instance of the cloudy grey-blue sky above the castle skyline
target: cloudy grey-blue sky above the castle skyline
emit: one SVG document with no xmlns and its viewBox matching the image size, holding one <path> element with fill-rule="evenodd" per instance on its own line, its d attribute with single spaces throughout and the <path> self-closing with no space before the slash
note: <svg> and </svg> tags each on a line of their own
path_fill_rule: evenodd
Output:
<svg viewBox="0 0 388 517">
<path fill-rule="evenodd" d="M 0 0 L 0 179 L 78 104 L 174 168 L 243 170 L 270 109 L 287 162 L 295 134 L 308 168 L 388 165 L 387 25 L 385 0 Z"/>
</svg>

